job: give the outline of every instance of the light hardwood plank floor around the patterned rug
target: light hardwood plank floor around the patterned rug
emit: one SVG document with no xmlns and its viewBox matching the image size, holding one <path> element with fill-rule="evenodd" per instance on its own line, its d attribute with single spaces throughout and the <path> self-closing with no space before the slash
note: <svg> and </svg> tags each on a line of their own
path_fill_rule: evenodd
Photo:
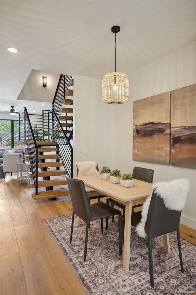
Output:
<svg viewBox="0 0 196 295">
<path fill-rule="evenodd" d="M 28 185 L 18 186 L 17 175 L 0 179 L 0 294 L 85 295 L 43 222 L 72 213 L 70 198 L 34 201 L 32 191 Z M 181 237 L 196 244 L 195 230 L 183 225 L 180 229 Z"/>
</svg>

